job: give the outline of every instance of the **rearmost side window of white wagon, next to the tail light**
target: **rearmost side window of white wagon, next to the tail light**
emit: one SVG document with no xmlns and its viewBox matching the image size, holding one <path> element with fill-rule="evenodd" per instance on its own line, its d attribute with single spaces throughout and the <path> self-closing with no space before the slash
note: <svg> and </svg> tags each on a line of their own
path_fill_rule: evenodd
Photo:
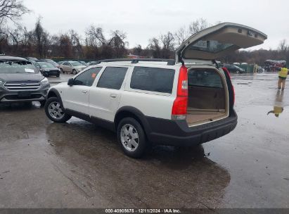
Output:
<svg viewBox="0 0 289 214">
<path fill-rule="evenodd" d="M 174 70 L 165 68 L 134 67 L 131 89 L 172 94 Z"/>
</svg>

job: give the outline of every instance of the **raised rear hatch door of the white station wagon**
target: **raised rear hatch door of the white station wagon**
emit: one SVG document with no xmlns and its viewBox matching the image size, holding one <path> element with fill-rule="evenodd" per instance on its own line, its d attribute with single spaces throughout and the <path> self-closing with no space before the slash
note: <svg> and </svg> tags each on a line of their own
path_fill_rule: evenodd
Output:
<svg viewBox="0 0 289 214">
<path fill-rule="evenodd" d="M 252 27 L 221 23 L 193 34 L 176 50 L 176 63 L 215 60 L 238 49 L 262 44 L 266 34 Z"/>
</svg>

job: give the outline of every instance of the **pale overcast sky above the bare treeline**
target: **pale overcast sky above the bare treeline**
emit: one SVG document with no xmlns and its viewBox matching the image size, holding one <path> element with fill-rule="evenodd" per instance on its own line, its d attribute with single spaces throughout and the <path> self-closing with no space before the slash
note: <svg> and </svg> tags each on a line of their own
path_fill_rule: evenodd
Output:
<svg viewBox="0 0 289 214">
<path fill-rule="evenodd" d="M 208 23 L 231 22 L 248 25 L 268 35 L 264 44 L 253 49 L 276 49 L 281 39 L 289 43 L 289 1 L 255 0 L 24 0 L 32 13 L 23 17 L 29 29 L 41 15 L 50 34 L 74 29 L 84 37 L 91 25 L 127 33 L 129 47 L 146 46 L 148 39 L 188 26 L 205 18 Z"/>
</svg>

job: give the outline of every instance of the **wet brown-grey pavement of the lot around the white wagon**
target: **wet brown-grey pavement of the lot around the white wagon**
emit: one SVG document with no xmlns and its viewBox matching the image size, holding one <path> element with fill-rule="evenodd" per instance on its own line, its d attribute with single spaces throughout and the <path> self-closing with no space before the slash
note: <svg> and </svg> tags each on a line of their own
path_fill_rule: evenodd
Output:
<svg viewBox="0 0 289 214">
<path fill-rule="evenodd" d="M 140 160 L 89 122 L 1 105 L 0 208 L 289 208 L 289 87 L 270 73 L 232 78 L 236 130 Z"/>
</svg>

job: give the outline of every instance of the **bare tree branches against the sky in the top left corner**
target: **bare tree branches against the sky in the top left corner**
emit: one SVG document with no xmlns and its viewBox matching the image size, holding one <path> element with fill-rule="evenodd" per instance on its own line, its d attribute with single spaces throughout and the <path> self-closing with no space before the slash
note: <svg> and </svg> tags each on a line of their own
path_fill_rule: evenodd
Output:
<svg viewBox="0 0 289 214">
<path fill-rule="evenodd" d="M 18 0 L 0 0 L 0 23 L 4 20 L 11 20 L 15 23 L 25 13 L 30 10 Z"/>
</svg>

